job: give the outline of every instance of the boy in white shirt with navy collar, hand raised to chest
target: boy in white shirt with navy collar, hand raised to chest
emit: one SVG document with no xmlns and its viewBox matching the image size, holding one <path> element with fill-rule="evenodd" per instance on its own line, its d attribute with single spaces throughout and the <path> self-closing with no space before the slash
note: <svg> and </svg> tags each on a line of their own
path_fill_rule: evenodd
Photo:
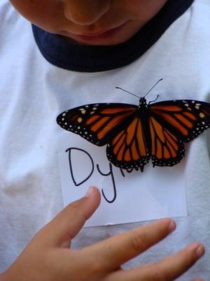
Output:
<svg viewBox="0 0 210 281">
<path fill-rule="evenodd" d="M 179 229 L 171 240 L 168 238 L 142 259 L 140 256 L 132 261 L 134 269 L 120 270 L 120 266 L 166 237 L 174 230 L 174 223 L 166 219 L 137 228 L 71 251 L 70 256 L 69 240 L 99 205 L 96 189 L 92 189 L 89 197 L 64 209 L 15 259 L 34 233 L 62 209 L 55 144 L 59 128 L 55 119 L 66 106 L 118 102 L 118 96 L 110 91 L 111 85 L 125 85 L 130 91 L 146 93 L 151 77 L 153 81 L 160 77 L 167 81 L 162 84 L 162 100 L 209 99 L 209 0 L 13 0 L 11 4 L 34 23 L 34 34 L 29 22 L 3 0 L 0 4 L 0 271 L 3 272 L 0 280 L 179 277 L 204 254 L 201 244 L 191 244 L 155 266 L 138 265 L 140 261 L 155 262 L 154 257 L 171 254 L 177 245 L 182 247 L 195 240 L 202 240 L 208 248 L 207 134 L 193 141 L 188 151 L 189 216 L 177 219 Z M 121 100 L 125 102 L 130 97 Z M 102 240 L 102 235 L 108 237 L 139 225 L 85 228 L 76 239 L 76 247 L 85 247 Z M 207 257 L 208 252 L 183 280 L 198 275 L 208 278 Z"/>
</svg>

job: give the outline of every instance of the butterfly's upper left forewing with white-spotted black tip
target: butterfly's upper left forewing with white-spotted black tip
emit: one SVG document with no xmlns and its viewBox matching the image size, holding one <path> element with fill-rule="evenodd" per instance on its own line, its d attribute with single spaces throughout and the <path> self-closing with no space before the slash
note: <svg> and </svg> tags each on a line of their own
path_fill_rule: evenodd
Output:
<svg viewBox="0 0 210 281">
<path fill-rule="evenodd" d="M 136 112 L 136 105 L 125 103 L 83 105 L 62 112 L 57 117 L 57 124 L 95 145 L 102 146 L 126 126 Z"/>
</svg>

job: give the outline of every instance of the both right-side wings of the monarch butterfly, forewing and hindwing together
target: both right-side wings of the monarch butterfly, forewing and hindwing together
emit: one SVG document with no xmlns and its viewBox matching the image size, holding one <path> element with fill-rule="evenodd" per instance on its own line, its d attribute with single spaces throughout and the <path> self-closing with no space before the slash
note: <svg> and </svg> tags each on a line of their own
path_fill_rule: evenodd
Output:
<svg viewBox="0 0 210 281">
<path fill-rule="evenodd" d="M 184 157 L 183 142 L 210 126 L 210 105 L 198 100 L 167 100 L 149 107 L 153 166 L 174 166 Z"/>
</svg>

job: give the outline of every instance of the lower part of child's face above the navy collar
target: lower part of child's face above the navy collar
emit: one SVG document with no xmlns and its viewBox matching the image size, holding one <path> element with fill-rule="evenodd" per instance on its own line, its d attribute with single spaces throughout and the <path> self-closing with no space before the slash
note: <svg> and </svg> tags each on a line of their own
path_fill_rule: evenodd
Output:
<svg viewBox="0 0 210 281">
<path fill-rule="evenodd" d="M 79 44 L 130 39 L 167 0 L 10 0 L 29 21 Z"/>
</svg>

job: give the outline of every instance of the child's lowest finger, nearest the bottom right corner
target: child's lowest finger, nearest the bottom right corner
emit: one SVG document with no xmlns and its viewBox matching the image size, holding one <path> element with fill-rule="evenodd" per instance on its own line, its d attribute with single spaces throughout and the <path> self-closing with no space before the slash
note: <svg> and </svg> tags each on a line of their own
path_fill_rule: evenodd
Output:
<svg viewBox="0 0 210 281">
<path fill-rule="evenodd" d="M 185 249 L 153 265 L 139 266 L 131 270 L 112 273 L 106 281 L 171 281 L 180 277 L 204 254 L 200 243 L 190 244 Z M 197 279 L 200 280 L 200 279 Z"/>
</svg>

